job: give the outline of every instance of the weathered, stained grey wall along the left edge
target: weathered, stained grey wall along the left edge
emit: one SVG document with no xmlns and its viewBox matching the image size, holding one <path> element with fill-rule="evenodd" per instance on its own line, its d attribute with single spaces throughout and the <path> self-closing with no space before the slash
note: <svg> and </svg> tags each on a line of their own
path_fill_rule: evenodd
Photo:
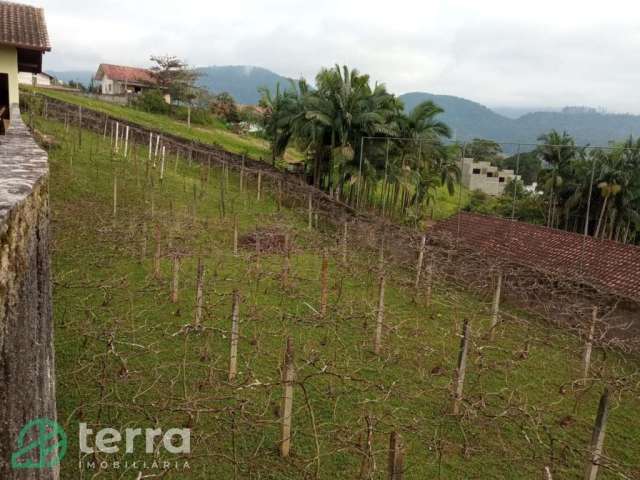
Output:
<svg viewBox="0 0 640 480">
<path fill-rule="evenodd" d="M 57 479 L 56 467 L 10 463 L 27 422 L 56 420 L 47 154 L 11 113 L 0 136 L 0 478 Z"/>
</svg>

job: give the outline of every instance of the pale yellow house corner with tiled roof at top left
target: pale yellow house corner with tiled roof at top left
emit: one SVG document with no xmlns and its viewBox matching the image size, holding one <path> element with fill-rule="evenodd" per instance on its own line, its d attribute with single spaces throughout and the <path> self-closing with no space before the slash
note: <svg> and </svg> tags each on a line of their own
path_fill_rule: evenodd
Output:
<svg viewBox="0 0 640 480">
<path fill-rule="evenodd" d="M 50 50 L 44 10 L 0 1 L 0 130 L 19 102 L 18 72 L 40 73 L 42 55 Z"/>
</svg>

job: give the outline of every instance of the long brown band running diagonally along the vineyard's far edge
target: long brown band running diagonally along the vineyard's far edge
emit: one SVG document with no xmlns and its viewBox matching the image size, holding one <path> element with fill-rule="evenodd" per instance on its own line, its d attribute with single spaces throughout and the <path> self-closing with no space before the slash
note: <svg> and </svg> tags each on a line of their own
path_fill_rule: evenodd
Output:
<svg viewBox="0 0 640 480">
<path fill-rule="evenodd" d="M 253 179 L 256 187 L 260 184 L 263 191 L 270 192 L 279 202 L 299 210 L 304 216 L 308 215 L 309 223 L 314 223 L 330 236 L 333 235 L 336 245 L 344 241 L 347 235 L 345 232 L 348 232 L 349 244 L 384 252 L 384 262 L 393 262 L 406 273 L 406 279 L 398 281 L 407 285 L 413 285 L 413 275 L 422 269 L 422 266 L 416 265 L 416 257 L 422 252 L 421 232 L 399 226 L 388 219 L 360 213 L 345 202 L 333 198 L 335 195 L 327 195 L 304 184 L 298 178 L 292 179 L 290 175 L 241 155 L 151 132 L 68 104 L 47 100 L 46 105 L 47 116 L 67 124 L 73 122 L 83 128 L 102 133 L 105 137 L 107 132 L 110 134 L 110 131 L 113 131 L 113 143 L 124 140 L 125 144 L 131 142 L 146 146 L 147 141 L 151 145 L 155 140 L 156 151 L 164 151 L 168 156 L 173 155 L 176 161 L 180 157 L 189 162 L 199 163 L 207 169 L 213 165 L 218 165 L 223 171 L 234 168 L 240 172 L 240 178 L 244 178 L 245 182 Z M 81 132 L 81 129 L 78 131 Z M 122 140 L 116 140 L 119 138 L 116 132 L 123 135 L 120 137 Z M 125 135 L 127 138 L 124 138 Z M 158 148 L 159 145 L 162 149 Z M 151 156 L 151 149 L 149 155 Z M 161 162 L 162 158 L 164 155 L 161 155 Z M 204 172 L 203 175 L 208 173 Z M 424 255 L 427 257 L 425 275 L 418 276 L 417 290 L 422 292 L 432 288 L 436 283 L 434 279 L 437 278 L 438 284 L 471 288 L 490 298 L 487 300 L 487 306 L 499 309 L 500 295 L 497 295 L 496 301 L 495 287 L 500 279 L 503 296 L 531 309 L 532 312 L 539 313 L 547 320 L 573 329 L 581 336 L 585 334 L 585 325 L 591 324 L 593 308 L 598 308 L 599 320 L 595 336 L 598 341 L 595 343 L 602 348 L 634 348 L 633 338 L 609 335 L 616 329 L 624 328 L 624 325 L 628 324 L 629 312 L 637 311 L 637 304 L 633 298 L 621 298 L 610 292 L 600 291 L 597 286 L 585 283 L 580 278 L 564 278 L 557 272 L 540 271 L 518 262 L 487 257 L 485 252 L 475 250 L 473 245 L 460 242 L 460 234 L 461 231 L 458 229 L 453 239 L 446 234 L 429 235 L 428 248 Z M 380 248 L 381 242 L 383 248 Z M 260 247 L 257 249 L 259 251 Z"/>
</svg>

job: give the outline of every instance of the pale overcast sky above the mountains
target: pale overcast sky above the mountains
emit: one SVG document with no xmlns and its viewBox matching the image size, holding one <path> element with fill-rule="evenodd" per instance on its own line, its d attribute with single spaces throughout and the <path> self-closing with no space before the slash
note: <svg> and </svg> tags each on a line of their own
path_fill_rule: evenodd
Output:
<svg viewBox="0 0 640 480">
<path fill-rule="evenodd" d="M 640 113 L 634 1 L 24 1 L 45 8 L 48 70 L 169 53 L 312 79 L 346 63 L 398 94 Z"/>
</svg>

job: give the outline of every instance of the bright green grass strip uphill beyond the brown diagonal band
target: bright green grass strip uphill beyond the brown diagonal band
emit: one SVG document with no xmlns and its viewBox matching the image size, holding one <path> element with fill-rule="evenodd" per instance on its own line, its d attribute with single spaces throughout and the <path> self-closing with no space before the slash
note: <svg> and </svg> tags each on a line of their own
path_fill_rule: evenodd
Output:
<svg viewBox="0 0 640 480">
<path fill-rule="evenodd" d="M 32 90 L 31 87 L 21 88 Z M 75 105 L 81 105 L 82 107 L 90 108 L 98 112 L 107 113 L 115 118 L 121 118 L 148 128 L 178 135 L 189 140 L 196 140 L 210 145 L 217 144 L 230 152 L 246 153 L 256 159 L 264 158 L 268 160 L 270 158 L 269 144 L 265 140 L 251 135 L 238 135 L 233 133 L 220 121 L 211 126 L 194 124 L 192 128 L 189 128 L 186 122 L 170 118 L 166 115 L 142 112 L 134 108 L 116 105 L 79 94 L 43 88 L 38 89 L 38 93 Z M 300 153 L 293 149 L 289 149 L 285 155 L 285 160 L 288 162 L 295 162 L 300 159 Z"/>
</svg>

